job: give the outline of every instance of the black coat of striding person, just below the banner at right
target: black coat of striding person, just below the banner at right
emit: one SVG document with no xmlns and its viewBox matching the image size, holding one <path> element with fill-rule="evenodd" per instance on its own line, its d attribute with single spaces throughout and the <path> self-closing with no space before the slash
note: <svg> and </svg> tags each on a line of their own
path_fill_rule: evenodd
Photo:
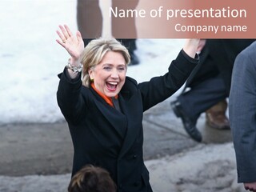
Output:
<svg viewBox="0 0 256 192">
<path fill-rule="evenodd" d="M 186 86 L 193 88 L 208 78 L 220 75 L 228 95 L 234 59 L 254 41 L 255 39 L 207 39 L 200 54 L 200 63 L 191 74 Z"/>
</svg>

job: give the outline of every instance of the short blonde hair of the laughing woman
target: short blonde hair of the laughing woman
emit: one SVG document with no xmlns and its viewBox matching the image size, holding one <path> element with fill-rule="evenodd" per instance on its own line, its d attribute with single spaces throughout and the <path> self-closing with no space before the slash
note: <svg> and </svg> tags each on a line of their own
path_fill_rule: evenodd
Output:
<svg viewBox="0 0 256 192">
<path fill-rule="evenodd" d="M 125 59 L 126 65 L 130 62 L 130 54 L 128 50 L 115 38 L 97 38 L 92 40 L 86 46 L 82 55 L 82 84 L 84 86 L 89 87 L 90 85 L 90 68 L 98 65 L 108 51 L 121 53 Z"/>
</svg>

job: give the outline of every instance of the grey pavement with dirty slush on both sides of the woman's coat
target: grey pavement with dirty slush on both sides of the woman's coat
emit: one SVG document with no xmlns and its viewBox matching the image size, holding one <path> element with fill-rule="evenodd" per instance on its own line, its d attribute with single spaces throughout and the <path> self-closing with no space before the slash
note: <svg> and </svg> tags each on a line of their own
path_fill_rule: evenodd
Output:
<svg viewBox="0 0 256 192">
<path fill-rule="evenodd" d="M 240 192 L 230 130 L 198 119 L 194 142 L 170 101 L 144 114 L 144 158 L 154 192 Z M 63 192 L 70 182 L 73 146 L 66 122 L 0 126 L 0 191 Z"/>
</svg>

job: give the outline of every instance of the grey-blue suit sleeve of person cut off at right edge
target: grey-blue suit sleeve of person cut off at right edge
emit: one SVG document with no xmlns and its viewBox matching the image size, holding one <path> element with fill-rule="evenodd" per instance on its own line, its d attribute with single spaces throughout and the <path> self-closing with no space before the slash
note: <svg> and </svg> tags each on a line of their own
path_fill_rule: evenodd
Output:
<svg viewBox="0 0 256 192">
<path fill-rule="evenodd" d="M 238 182 L 256 182 L 256 44 L 238 54 L 231 80 L 229 113 Z"/>
</svg>

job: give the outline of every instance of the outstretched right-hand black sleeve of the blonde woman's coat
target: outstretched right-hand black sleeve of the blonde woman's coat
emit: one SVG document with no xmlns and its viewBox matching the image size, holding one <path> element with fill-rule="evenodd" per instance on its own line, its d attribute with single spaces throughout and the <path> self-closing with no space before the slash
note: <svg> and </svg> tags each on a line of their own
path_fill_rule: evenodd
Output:
<svg viewBox="0 0 256 192">
<path fill-rule="evenodd" d="M 143 110 L 148 110 L 174 94 L 186 82 L 198 62 L 198 55 L 196 58 L 190 58 L 184 50 L 181 50 L 177 58 L 171 62 L 166 74 L 151 78 L 150 82 L 139 83 Z"/>
</svg>

